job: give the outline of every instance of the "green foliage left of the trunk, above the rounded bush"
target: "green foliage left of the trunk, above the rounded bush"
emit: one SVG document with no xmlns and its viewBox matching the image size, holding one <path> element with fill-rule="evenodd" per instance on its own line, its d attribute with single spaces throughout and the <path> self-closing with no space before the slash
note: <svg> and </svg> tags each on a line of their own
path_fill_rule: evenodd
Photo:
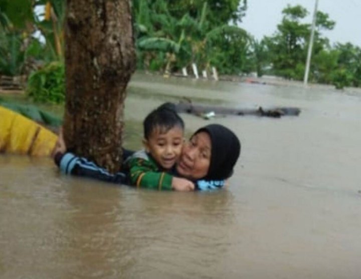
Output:
<svg viewBox="0 0 361 279">
<path fill-rule="evenodd" d="M 60 8 L 65 7 L 65 1 L 51 2 L 54 3 L 55 15 L 64 12 Z M 59 59 L 55 47 L 56 43 L 52 36 L 44 33 L 46 38 L 48 36 L 45 45 L 32 37 L 36 30 L 44 27 L 44 21 L 39 21 L 38 16 L 34 13 L 33 5 L 37 6 L 45 3 L 45 0 L 0 0 L 1 75 L 28 75 L 44 62 Z M 62 30 L 61 24 L 62 22 L 59 21 L 56 25 L 47 22 L 48 28 L 44 30 L 48 30 L 49 34 L 55 29 L 60 28 Z"/>
</svg>

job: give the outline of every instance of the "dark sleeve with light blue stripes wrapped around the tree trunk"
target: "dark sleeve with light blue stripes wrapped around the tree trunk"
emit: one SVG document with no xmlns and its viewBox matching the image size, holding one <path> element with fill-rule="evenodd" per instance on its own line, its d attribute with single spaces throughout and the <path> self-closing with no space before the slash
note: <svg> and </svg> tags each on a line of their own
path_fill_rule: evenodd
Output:
<svg viewBox="0 0 361 279">
<path fill-rule="evenodd" d="M 60 171 L 64 174 L 85 176 L 118 184 L 126 184 L 128 182 L 126 173 L 117 172 L 115 174 L 111 174 L 106 169 L 96 165 L 94 162 L 83 157 L 77 157 L 73 153 L 57 153 L 54 160 L 59 166 Z"/>
</svg>

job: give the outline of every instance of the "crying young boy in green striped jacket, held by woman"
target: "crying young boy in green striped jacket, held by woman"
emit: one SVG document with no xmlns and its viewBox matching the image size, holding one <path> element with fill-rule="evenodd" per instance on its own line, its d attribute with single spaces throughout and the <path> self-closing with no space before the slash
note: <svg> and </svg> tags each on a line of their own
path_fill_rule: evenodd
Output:
<svg viewBox="0 0 361 279">
<path fill-rule="evenodd" d="M 153 110 L 143 121 L 144 149 L 125 161 L 130 183 L 151 189 L 194 190 L 194 184 L 174 177 L 184 143 L 184 122 L 174 105 L 165 103 Z"/>
</svg>

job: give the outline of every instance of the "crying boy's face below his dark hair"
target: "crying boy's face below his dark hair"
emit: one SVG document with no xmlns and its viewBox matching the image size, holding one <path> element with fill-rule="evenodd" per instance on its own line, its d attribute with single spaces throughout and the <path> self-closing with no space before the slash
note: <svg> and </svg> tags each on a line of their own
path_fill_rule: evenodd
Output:
<svg viewBox="0 0 361 279">
<path fill-rule="evenodd" d="M 148 140 L 143 139 L 146 151 L 164 169 L 171 169 L 178 160 L 183 142 L 183 129 L 176 126 L 165 133 L 158 127 Z"/>
</svg>

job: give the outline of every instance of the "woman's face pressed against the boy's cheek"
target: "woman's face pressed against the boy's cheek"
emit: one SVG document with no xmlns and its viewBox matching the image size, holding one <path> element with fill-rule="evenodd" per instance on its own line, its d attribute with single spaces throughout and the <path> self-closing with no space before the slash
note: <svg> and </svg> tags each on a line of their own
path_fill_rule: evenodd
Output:
<svg viewBox="0 0 361 279">
<path fill-rule="evenodd" d="M 210 136 L 206 132 L 199 132 L 184 145 L 176 170 L 182 177 L 201 179 L 208 173 L 211 155 Z"/>
</svg>

